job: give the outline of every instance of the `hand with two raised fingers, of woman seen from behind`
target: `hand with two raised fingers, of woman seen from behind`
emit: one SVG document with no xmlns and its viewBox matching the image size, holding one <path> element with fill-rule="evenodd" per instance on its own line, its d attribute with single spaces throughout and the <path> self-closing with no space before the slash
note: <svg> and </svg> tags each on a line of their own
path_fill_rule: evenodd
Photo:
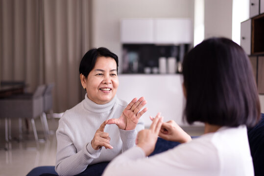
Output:
<svg viewBox="0 0 264 176">
<path fill-rule="evenodd" d="M 153 119 L 153 122 L 150 125 L 149 129 L 142 130 L 137 135 L 136 144 L 138 147 L 144 150 L 146 156 L 151 154 L 155 149 L 162 121 L 163 117 L 161 117 L 160 113 L 158 113 L 157 116 Z"/>
</svg>

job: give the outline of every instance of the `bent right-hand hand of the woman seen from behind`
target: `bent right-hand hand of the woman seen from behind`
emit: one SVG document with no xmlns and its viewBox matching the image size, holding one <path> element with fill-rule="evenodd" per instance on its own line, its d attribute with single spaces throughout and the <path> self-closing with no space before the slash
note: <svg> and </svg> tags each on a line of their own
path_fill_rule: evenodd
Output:
<svg viewBox="0 0 264 176">
<path fill-rule="evenodd" d="M 152 117 L 150 117 L 153 120 Z M 159 136 L 168 141 L 185 143 L 192 140 L 191 136 L 173 120 L 164 122 L 161 126 Z"/>
</svg>

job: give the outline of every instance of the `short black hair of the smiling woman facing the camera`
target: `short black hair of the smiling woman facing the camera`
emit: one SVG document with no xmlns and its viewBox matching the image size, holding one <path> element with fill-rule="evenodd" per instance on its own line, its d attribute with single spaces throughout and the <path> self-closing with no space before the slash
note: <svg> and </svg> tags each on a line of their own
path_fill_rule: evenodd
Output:
<svg viewBox="0 0 264 176">
<path fill-rule="evenodd" d="M 99 47 L 90 49 L 85 53 L 80 62 L 80 74 L 83 74 L 87 78 L 91 70 L 95 67 L 97 58 L 101 56 L 113 58 L 117 63 L 118 71 L 118 56 L 105 47 Z"/>
</svg>

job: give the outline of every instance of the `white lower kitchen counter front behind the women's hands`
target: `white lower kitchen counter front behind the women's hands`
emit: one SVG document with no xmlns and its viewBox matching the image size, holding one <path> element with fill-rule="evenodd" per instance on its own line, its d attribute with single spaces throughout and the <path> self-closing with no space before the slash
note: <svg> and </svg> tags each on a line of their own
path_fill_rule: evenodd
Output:
<svg viewBox="0 0 264 176">
<path fill-rule="evenodd" d="M 182 121 L 185 98 L 182 91 L 182 75 L 119 75 L 117 96 L 129 103 L 133 98 L 144 96 L 148 108 L 143 115 L 146 127 L 158 112 L 164 116 L 164 121 L 174 120 L 179 125 L 188 126 Z M 196 124 L 197 125 L 197 124 Z M 201 125 L 201 124 L 198 124 Z"/>
</svg>

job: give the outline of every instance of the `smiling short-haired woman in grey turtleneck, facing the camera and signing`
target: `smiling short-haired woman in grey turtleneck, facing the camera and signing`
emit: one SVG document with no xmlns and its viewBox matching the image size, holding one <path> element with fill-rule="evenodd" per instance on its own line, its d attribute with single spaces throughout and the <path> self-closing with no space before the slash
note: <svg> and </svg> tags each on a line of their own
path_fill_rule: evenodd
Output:
<svg viewBox="0 0 264 176">
<path fill-rule="evenodd" d="M 85 171 L 88 165 L 110 161 L 135 145 L 144 129 L 139 121 L 146 101 L 134 98 L 128 105 L 116 96 L 118 56 L 107 48 L 89 50 L 82 58 L 80 80 L 84 100 L 65 111 L 59 120 L 55 170 L 62 176 Z"/>
</svg>

